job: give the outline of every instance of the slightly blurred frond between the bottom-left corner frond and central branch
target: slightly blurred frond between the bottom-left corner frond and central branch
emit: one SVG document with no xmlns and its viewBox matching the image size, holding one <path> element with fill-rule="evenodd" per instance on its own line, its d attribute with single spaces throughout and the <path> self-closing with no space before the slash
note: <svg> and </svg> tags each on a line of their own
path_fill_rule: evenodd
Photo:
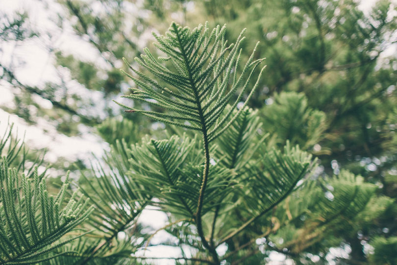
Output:
<svg viewBox="0 0 397 265">
<path fill-rule="evenodd" d="M 119 232 L 127 231 L 136 224 L 137 217 L 150 200 L 141 193 L 142 187 L 130 178 L 130 163 L 133 152 L 127 144 L 116 140 L 110 152 L 105 153 L 101 163 L 87 176 L 82 172 L 82 193 L 93 201 L 96 211 L 87 222 L 102 237 L 97 248 L 86 255 L 84 262 L 101 256 L 113 248 L 113 241 Z"/>
</svg>

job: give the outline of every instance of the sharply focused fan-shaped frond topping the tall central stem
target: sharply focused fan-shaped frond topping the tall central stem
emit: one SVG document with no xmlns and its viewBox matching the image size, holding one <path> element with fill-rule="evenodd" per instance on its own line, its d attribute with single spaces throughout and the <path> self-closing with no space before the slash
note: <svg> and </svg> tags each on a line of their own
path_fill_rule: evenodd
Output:
<svg viewBox="0 0 397 265">
<path fill-rule="evenodd" d="M 154 120 L 205 131 L 209 142 L 215 140 L 244 110 L 258 85 L 256 82 L 244 106 L 233 113 L 237 103 L 248 91 L 253 73 L 263 61 L 254 60 L 255 47 L 242 72 L 237 73 L 244 31 L 236 43 L 231 45 L 225 41 L 225 25 L 210 30 L 206 23 L 205 26 L 200 24 L 191 30 L 172 23 L 165 35 L 153 33 L 158 42 L 155 46 L 166 54 L 165 60 L 159 59 L 170 61 L 171 65 L 160 63 L 147 48 L 145 54 L 135 58 L 135 61 L 153 77 L 135 70 L 124 60 L 137 77 L 127 75 L 139 87 L 131 89 L 131 95 L 125 97 L 161 107 L 169 113 L 138 110 L 118 104 Z M 257 81 L 262 71 L 257 76 Z M 239 89 L 237 98 L 229 110 L 224 112 Z"/>
</svg>

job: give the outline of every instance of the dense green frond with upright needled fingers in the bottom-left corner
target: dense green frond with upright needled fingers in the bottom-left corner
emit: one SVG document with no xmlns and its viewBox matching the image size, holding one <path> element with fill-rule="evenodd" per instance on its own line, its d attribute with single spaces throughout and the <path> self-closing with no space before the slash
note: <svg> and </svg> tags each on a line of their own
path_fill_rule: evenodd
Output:
<svg viewBox="0 0 397 265">
<path fill-rule="evenodd" d="M 58 241 L 86 219 L 93 208 L 89 200 L 76 200 L 76 193 L 65 203 L 66 178 L 56 196 L 48 194 L 46 179 L 40 180 L 37 167 L 33 179 L 10 169 L 6 158 L 0 161 L 0 263 L 33 264 L 54 249 L 79 238 Z M 51 245 L 52 244 L 52 245 Z"/>
</svg>

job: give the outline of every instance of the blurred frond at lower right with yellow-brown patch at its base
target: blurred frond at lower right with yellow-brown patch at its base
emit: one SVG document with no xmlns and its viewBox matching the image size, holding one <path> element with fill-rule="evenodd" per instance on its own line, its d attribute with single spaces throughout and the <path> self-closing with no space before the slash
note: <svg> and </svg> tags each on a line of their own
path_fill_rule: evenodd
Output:
<svg viewBox="0 0 397 265">
<path fill-rule="evenodd" d="M 293 195 L 290 208 L 300 208 L 300 212 L 293 212 L 292 218 L 299 221 L 291 222 L 273 237 L 274 241 L 278 237 L 285 239 L 280 247 L 300 253 L 324 237 L 346 231 L 351 223 L 357 222 L 355 218 L 366 207 L 376 189 L 375 185 L 362 183 L 360 176 L 346 170 L 323 184 L 328 187 L 325 192 L 319 186 L 309 185 Z M 311 191 L 307 193 L 309 189 Z"/>
</svg>

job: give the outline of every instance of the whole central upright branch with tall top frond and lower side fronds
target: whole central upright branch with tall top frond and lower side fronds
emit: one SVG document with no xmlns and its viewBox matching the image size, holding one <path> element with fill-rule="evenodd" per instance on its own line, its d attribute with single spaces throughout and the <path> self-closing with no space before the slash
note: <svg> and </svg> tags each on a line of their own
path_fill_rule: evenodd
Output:
<svg viewBox="0 0 397 265">
<path fill-rule="evenodd" d="M 145 50 L 146 55 L 142 55 L 143 60 L 135 58 L 154 77 L 172 86 L 171 89 L 130 67 L 146 82 L 130 76 L 141 89 L 131 89 L 133 93 L 125 97 L 167 109 L 171 114 L 119 104 L 128 109 L 126 112 L 142 113 L 154 120 L 201 132 L 202 145 L 196 144 L 197 138 L 189 140 L 186 137 L 133 145 L 130 160 L 132 177 L 141 187 L 146 187 L 149 195 L 160 199 L 158 205 L 166 211 L 194 223 L 204 248 L 212 257 L 208 262 L 219 264 L 216 247 L 247 229 L 285 199 L 310 170 L 311 156 L 289 145 L 283 154 L 268 152 L 266 148 L 261 148 L 259 155 L 255 154 L 256 148 L 248 151 L 250 142 L 258 137 L 256 133 L 260 124 L 255 113 L 245 106 L 258 81 L 240 109 L 235 108 L 262 60 L 253 61 L 252 53 L 242 74 L 234 72 L 229 88 L 231 70 L 233 67 L 238 69 L 240 61 L 241 50 L 238 56 L 237 50 L 243 40 L 242 34 L 235 46 L 226 46 L 224 26 L 218 26 L 210 33 L 206 24 L 203 35 L 200 35 L 202 30 L 202 25 L 191 31 L 173 23 L 165 36 L 154 34 L 159 42 L 155 46 L 167 54 L 167 57 L 159 59 L 171 61 L 174 66 L 172 70 L 158 63 L 149 49 Z M 212 40 L 214 44 L 209 46 Z M 243 76 L 248 72 L 247 80 L 243 82 Z M 212 75 L 214 78 L 211 80 Z M 259 77 L 260 73 L 258 80 Z M 237 99 L 227 106 L 240 86 L 243 89 Z M 221 136 L 219 150 L 214 145 L 217 151 L 211 151 L 209 143 L 218 136 Z M 256 144 L 261 145 L 263 140 L 258 139 Z M 197 146 L 200 146 L 203 155 L 196 149 Z M 212 158 L 211 162 L 211 154 L 220 157 Z M 254 155 L 256 160 L 251 162 Z M 239 197 L 241 199 L 234 204 L 230 203 L 230 200 L 235 201 Z M 234 231 L 225 230 L 223 234 L 218 231 L 215 234 L 218 217 L 224 218 L 226 211 L 231 209 L 245 212 L 244 208 L 248 209 L 251 218 L 236 224 Z M 212 211 L 213 217 L 208 216 Z M 211 219 L 212 227 L 205 227 Z M 208 233 L 209 238 L 205 236 Z"/>
</svg>

